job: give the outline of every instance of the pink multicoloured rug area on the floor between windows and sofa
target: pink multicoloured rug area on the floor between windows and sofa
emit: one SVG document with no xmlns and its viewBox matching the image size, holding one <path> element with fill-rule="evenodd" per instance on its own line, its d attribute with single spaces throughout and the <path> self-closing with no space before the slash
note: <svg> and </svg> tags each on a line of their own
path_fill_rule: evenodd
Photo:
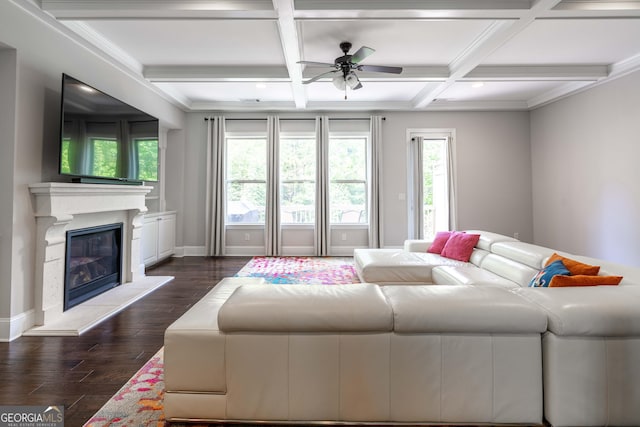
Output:
<svg viewBox="0 0 640 427">
<path fill-rule="evenodd" d="M 360 283 L 350 257 L 254 257 L 236 277 L 261 277 L 274 284 Z"/>
</svg>

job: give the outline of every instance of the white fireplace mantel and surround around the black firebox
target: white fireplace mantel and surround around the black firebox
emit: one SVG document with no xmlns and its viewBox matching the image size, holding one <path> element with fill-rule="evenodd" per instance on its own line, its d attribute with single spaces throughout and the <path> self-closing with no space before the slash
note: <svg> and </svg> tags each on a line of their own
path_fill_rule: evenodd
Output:
<svg viewBox="0 0 640 427">
<path fill-rule="evenodd" d="M 66 232 L 69 230 L 122 222 L 123 283 L 107 293 L 115 293 L 118 289 L 125 288 L 124 285 L 130 284 L 135 286 L 127 286 L 129 288 L 128 293 L 125 292 L 127 295 L 131 294 L 133 289 L 140 288 L 139 284 L 145 279 L 140 252 L 142 222 L 147 211 L 145 195 L 151 190 L 152 187 L 140 185 L 63 182 L 29 185 L 37 226 L 34 319 L 36 328 L 34 329 L 38 327 L 50 329 L 51 325 L 57 325 L 65 316 L 84 319 L 84 314 L 78 315 L 78 312 L 82 311 L 82 306 L 85 304 L 90 306 L 91 301 L 101 297 L 95 297 L 63 312 Z M 100 310 L 87 307 L 85 311 L 99 312 Z M 103 311 L 105 313 L 102 317 L 108 317 L 115 312 L 115 309 Z M 88 319 L 85 323 L 95 324 L 99 320 L 101 319 Z"/>
</svg>

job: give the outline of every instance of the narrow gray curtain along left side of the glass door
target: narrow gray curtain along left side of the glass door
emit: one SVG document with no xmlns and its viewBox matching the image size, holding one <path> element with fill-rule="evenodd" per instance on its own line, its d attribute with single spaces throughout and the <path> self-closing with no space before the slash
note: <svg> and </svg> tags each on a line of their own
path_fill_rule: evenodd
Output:
<svg viewBox="0 0 640 427">
<path fill-rule="evenodd" d="M 422 211 L 422 205 L 424 200 L 423 195 L 423 176 L 422 170 L 422 140 L 421 136 L 411 138 L 409 142 L 409 191 L 410 197 L 410 212 L 411 218 L 409 221 L 409 238 L 410 239 L 422 239 L 424 238 L 424 214 Z"/>
</svg>

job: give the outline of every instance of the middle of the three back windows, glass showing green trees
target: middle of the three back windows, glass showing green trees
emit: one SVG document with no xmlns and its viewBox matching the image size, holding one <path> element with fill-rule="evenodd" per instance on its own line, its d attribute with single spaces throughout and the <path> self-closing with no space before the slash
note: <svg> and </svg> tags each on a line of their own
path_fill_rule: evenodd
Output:
<svg viewBox="0 0 640 427">
<path fill-rule="evenodd" d="M 280 218 L 282 224 L 315 222 L 315 137 L 280 139 Z"/>
</svg>

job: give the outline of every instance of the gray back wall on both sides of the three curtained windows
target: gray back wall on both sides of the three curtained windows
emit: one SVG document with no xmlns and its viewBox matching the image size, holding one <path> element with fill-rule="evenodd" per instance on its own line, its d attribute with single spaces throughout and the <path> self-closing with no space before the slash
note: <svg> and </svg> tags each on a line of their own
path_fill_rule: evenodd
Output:
<svg viewBox="0 0 640 427">
<path fill-rule="evenodd" d="M 407 129 L 428 128 L 456 131 L 458 228 L 479 228 L 507 235 L 517 232 L 522 240 L 533 239 L 527 112 L 378 113 L 386 117 L 383 122 L 385 246 L 401 246 L 407 238 L 407 203 L 399 200 L 401 193 L 407 193 Z M 170 195 L 173 184 L 168 184 L 167 203 L 183 215 L 184 229 L 178 246 L 184 246 L 185 253 L 190 250 L 197 253 L 195 248 L 204 245 L 205 116 L 187 114 L 184 153 L 168 159 L 167 164 L 167 170 L 171 170 L 169 182 L 171 176 L 184 179 L 184 187 L 175 188 L 180 194 Z M 354 243 L 358 245 L 359 242 Z"/>
</svg>

